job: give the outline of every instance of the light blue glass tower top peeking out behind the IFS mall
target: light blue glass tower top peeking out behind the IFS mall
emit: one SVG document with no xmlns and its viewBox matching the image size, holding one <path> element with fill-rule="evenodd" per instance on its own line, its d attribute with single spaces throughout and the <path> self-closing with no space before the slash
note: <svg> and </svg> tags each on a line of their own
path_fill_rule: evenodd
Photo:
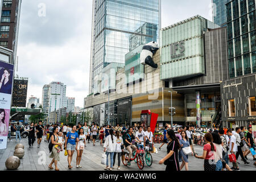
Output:
<svg viewBox="0 0 256 182">
<path fill-rule="evenodd" d="M 230 0 L 212 0 L 212 15 L 213 22 L 219 26 L 226 24 L 226 6 L 225 4 Z"/>
</svg>

